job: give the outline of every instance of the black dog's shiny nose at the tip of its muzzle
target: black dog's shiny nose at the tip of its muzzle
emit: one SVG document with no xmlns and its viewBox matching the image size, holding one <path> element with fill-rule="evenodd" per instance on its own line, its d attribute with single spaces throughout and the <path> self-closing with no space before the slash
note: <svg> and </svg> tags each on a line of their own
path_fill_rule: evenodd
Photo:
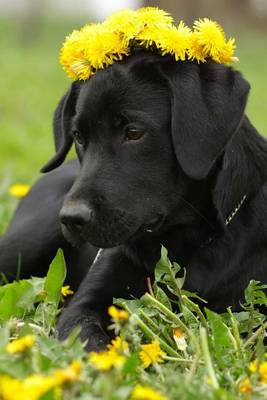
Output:
<svg viewBox="0 0 267 400">
<path fill-rule="evenodd" d="M 85 204 L 66 204 L 60 211 L 60 221 L 70 231 L 81 231 L 92 219 L 93 211 Z"/>
</svg>

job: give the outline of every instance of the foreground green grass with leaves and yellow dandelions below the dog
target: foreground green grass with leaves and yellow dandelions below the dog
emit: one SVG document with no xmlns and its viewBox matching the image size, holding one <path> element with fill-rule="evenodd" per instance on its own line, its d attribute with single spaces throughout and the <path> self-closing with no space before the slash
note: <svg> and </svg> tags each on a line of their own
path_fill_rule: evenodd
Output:
<svg viewBox="0 0 267 400">
<path fill-rule="evenodd" d="M 115 300 L 128 313 L 123 320 L 115 314 L 112 324 L 124 344 L 89 357 L 77 329 L 63 343 L 55 338 L 66 273 L 60 253 L 46 278 L 0 287 L 0 398 L 266 399 L 267 322 L 258 311 L 259 304 L 267 305 L 266 285 L 250 283 L 240 313 L 230 308 L 221 315 L 208 309 L 203 313 L 196 296 L 182 289 L 184 279 L 175 278 L 178 271 L 162 249 L 150 293 L 138 300 Z M 173 293 L 172 300 L 161 289 L 164 285 Z M 26 335 L 34 337 L 33 345 L 31 340 L 14 353 L 13 344 L 10 353 L 9 343 Z M 151 344 L 153 351 L 147 347 Z M 135 397 L 136 387 L 153 392 Z"/>
</svg>

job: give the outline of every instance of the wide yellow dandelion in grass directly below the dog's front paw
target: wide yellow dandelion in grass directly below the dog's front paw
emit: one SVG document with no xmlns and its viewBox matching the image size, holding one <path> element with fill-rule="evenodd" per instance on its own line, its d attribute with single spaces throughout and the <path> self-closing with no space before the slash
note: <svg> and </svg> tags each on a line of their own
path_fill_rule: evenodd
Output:
<svg viewBox="0 0 267 400">
<path fill-rule="evenodd" d="M 94 368 L 100 371 L 108 371 L 111 368 L 120 368 L 124 365 L 126 358 L 115 351 L 91 352 L 89 361 Z"/>
</svg>

